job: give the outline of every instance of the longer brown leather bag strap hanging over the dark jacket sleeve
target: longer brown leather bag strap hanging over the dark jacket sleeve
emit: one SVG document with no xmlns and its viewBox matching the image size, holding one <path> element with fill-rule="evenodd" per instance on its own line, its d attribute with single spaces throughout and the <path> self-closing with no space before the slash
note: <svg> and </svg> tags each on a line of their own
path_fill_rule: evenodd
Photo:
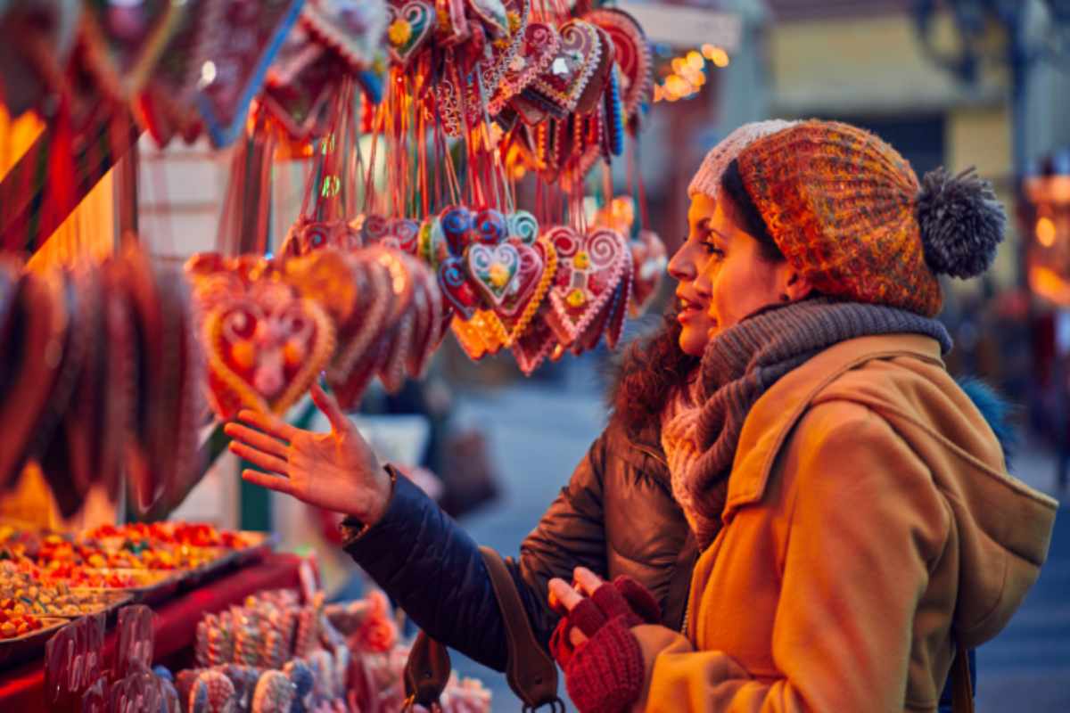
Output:
<svg viewBox="0 0 1070 713">
<path fill-rule="evenodd" d="M 552 711 L 564 712 L 564 703 L 557 697 L 557 666 L 535 637 L 508 568 L 493 549 L 479 547 L 479 553 L 505 622 L 508 639 L 505 678 L 509 687 L 524 702 L 524 711 L 549 706 Z"/>
</svg>

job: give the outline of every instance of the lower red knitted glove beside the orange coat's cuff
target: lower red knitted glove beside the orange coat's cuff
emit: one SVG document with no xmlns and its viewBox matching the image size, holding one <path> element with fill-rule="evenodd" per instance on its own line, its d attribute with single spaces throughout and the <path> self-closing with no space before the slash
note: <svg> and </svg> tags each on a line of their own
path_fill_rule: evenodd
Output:
<svg viewBox="0 0 1070 713">
<path fill-rule="evenodd" d="M 615 617 L 581 645 L 565 669 L 580 713 L 623 713 L 643 689 L 643 653 L 626 617 Z"/>
</svg>

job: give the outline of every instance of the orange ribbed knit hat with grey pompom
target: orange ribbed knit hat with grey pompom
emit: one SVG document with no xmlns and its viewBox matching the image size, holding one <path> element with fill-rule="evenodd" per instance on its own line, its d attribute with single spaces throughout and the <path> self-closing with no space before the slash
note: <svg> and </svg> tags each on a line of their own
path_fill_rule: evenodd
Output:
<svg viewBox="0 0 1070 713">
<path fill-rule="evenodd" d="M 1003 238 L 1006 216 L 988 183 L 937 169 L 919 184 L 895 149 L 849 124 L 801 122 L 736 160 L 781 252 L 832 297 L 933 316 L 936 276 L 980 275 Z"/>
</svg>

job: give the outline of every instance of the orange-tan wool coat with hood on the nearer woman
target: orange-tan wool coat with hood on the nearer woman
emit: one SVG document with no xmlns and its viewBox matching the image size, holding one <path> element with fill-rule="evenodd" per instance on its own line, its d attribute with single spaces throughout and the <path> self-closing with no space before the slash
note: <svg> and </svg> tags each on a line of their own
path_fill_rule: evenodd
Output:
<svg viewBox="0 0 1070 713">
<path fill-rule="evenodd" d="M 995 636 L 1056 502 L 1007 474 L 927 337 L 837 344 L 759 399 L 687 636 L 632 629 L 637 710 L 935 711 L 952 636 Z"/>
</svg>

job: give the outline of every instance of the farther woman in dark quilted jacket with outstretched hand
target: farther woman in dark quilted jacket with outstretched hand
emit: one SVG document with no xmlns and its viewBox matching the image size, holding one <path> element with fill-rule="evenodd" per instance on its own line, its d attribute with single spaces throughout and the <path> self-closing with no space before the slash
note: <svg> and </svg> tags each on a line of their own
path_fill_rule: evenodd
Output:
<svg viewBox="0 0 1070 713">
<path fill-rule="evenodd" d="M 737 129 L 710 151 L 689 192 L 716 200 L 721 173 L 738 152 L 786 125 Z M 520 558 L 508 562 L 544 645 L 559 620 L 547 603 L 547 584 L 570 578 L 576 567 L 603 577 L 632 576 L 658 600 L 661 623 L 674 630 L 683 623 L 698 549 L 673 495 L 661 423 L 671 416 L 667 405 L 696 374 L 707 342 L 712 251 L 701 233 L 692 233 L 674 255 L 674 314 L 628 350 L 609 425 L 524 540 Z M 770 257 L 778 254 L 771 246 Z M 505 627 L 476 543 L 406 478 L 380 467 L 330 396 L 314 388 L 312 397 L 331 433 L 304 432 L 249 412 L 240 418 L 263 433 L 227 427 L 236 439 L 233 452 L 285 476 L 246 470 L 243 478 L 348 514 L 347 552 L 409 616 L 439 641 L 503 670 Z"/>
</svg>

